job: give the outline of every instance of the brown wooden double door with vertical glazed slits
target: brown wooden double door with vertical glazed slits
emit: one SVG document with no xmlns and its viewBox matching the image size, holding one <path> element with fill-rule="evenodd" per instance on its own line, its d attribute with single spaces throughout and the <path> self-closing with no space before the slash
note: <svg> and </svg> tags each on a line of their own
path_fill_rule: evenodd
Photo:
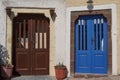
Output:
<svg viewBox="0 0 120 80">
<path fill-rule="evenodd" d="M 18 14 L 13 20 L 15 70 L 21 75 L 49 74 L 49 19 Z"/>
</svg>

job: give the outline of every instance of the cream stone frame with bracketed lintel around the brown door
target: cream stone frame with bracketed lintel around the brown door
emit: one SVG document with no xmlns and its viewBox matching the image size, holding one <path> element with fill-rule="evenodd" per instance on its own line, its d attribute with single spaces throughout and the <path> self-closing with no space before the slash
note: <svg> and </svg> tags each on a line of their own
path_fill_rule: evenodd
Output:
<svg viewBox="0 0 120 80">
<path fill-rule="evenodd" d="M 7 22 L 7 49 L 10 53 L 10 62 L 12 62 L 12 21 L 15 16 L 18 15 L 18 13 L 36 13 L 36 14 L 44 14 L 46 17 L 50 19 L 50 53 L 49 53 L 49 75 L 54 76 L 54 68 L 53 65 L 55 65 L 55 22 L 52 20 L 50 15 L 50 10 L 55 10 L 55 8 L 26 8 L 26 7 L 8 7 L 6 8 L 6 22 Z"/>
</svg>

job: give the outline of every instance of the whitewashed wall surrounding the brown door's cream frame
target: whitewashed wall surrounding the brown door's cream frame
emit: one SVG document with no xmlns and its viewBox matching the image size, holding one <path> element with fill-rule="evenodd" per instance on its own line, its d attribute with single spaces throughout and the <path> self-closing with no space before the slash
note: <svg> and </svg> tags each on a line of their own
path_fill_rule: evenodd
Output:
<svg viewBox="0 0 120 80">
<path fill-rule="evenodd" d="M 6 7 L 55 8 L 56 63 L 65 62 L 65 0 L 0 0 L 0 44 L 6 45 Z"/>
</svg>

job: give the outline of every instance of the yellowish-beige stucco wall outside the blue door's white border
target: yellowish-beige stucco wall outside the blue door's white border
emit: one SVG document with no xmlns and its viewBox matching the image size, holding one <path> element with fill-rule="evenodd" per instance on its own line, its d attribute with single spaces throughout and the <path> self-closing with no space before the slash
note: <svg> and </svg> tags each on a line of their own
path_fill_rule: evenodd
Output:
<svg viewBox="0 0 120 80">
<path fill-rule="evenodd" d="M 87 0 L 66 0 L 67 7 L 80 7 L 86 6 Z M 106 4 L 116 4 L 117 6 L 117 67 L 118 74 L 120 74 L 120 0 L 93 0 L 93 5 L 106 5 Z"/>
</svg>

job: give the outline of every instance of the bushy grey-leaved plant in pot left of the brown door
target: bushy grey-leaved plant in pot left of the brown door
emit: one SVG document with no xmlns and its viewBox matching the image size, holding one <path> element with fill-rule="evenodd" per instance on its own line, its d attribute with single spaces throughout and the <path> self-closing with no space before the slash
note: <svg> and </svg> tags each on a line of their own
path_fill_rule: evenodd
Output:
<svg viewBox="0 0 120 80">
<path fill-rule="evenodd" d="M 10 56 L 7 49 L 0 45 L 0 66 L 1 77 L 8 79 L 12 76 L 13 65 L 10 63 Z"/>
</svg>

